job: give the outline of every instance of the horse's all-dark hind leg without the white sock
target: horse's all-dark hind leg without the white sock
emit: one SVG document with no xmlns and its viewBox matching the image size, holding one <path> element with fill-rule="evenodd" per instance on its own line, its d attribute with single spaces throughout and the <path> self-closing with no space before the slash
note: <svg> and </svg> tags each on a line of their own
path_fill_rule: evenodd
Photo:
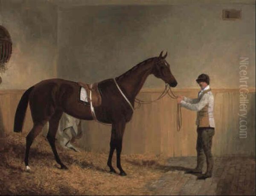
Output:
<svg viewBox="0 0 256 196">
<path fill-rule="evenodd" d="M 61 165 L 61 169 L 67 169 L 67 167 L 61 162 L 61 159 L 58 156 L 56 147 L 55 147 L 55 135 L 58 130 L 58 124 L 61 119 L 62 111 L 56 111 L 52 118 L 49 120 L 49 132 L 47 134 L 47 139 L 50 146 L 52 147 L 52 152 L 55 156 L 55 160 L 58 164 Z"/>
</svg>

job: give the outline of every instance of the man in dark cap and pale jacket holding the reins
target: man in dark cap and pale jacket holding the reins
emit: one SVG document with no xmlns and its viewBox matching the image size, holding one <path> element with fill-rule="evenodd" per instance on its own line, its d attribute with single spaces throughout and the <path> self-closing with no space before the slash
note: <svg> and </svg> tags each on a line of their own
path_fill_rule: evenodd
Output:
<svg viewBox="0 0 256 196">
<path fill-rule="evenodd" d="M 201 91 L 198 92 L 198 98 L 191 99 L 184 96 L 177 98 L 178 104 L 188 110 L 197 112 L 197 166 L 195 169 L 186 173 L 202 173 L 204 164 L 204 154 L 207 161 L 207 171 L 198 179 L 206 179 L 212 177 L 213 159 L 212 159 L 212 137 L 215 133 L 215 123 L 213 118 L 214 97 L 210 89 L 210 78 L 207 74 L 201 74 L 196 79 Z"/>
</svg>

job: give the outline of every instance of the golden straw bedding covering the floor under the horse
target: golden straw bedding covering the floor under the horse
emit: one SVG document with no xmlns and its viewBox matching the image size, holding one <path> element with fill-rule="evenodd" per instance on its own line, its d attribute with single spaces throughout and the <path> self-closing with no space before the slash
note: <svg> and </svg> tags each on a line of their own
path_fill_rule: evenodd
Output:
<svg viewBox="0 0 256 196">
<path fill-rule="evenodd" d="M 58 146 L 58 154 L 68 170 L 59 169 L 49 143 L 38 136 L 29 156 L 30 172 L 23 163 L 26 137 L 20 133 L 6 136 L 0 151 L 0 194 L 83 194 L 150 195 L 146 184 L 166 172 L 166 160 L 154 155 L 122 155 L 122 167 L 128 176 L 108 172 L 108 154 L 76 153 Z M 113 156 L 116 168 L 116 156 Z M 119 171 L 116 168 L 117 171 Z"/>
</svg>

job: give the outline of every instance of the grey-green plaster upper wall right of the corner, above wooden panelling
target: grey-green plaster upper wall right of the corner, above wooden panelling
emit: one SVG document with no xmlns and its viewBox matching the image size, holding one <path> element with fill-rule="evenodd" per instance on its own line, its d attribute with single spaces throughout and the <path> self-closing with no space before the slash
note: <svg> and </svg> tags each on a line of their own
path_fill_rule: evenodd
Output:
<svg viewBox="0 0 256 196">
<path fill-rule="evenodd" d="M 195 1 L 194 1 L 195 2 Z M 222 9 L 241 9 L 242 20 L 222 20 Z M 197 88 L 209 74 L 213 88 L 239 88 L 239 58 L 248 57 L 255 87 L 255 5 L 186 3 L 62 8 L 58 14 L 58 77 L 95 82 L 116 77 L 168 51 L 177 88 Z M 150 76 L 144 87 L 161 87 Z"/>
</svg>

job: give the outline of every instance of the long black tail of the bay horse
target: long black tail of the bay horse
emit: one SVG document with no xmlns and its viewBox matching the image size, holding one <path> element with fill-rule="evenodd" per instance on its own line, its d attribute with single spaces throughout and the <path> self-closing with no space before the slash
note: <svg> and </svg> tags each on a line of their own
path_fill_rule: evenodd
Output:
<svg viewBox="0 0 256 196">
<path fill-rule="evenodd" d="M 16 113 L 15 113 L 14 127 L 13 127 L 14 132 L 18 133 L 22 131 L 23 121 L 24 121 L 26 109 L 29 103 L 29 94 L 33 88 L 34 86 L 31 86 L 29 89 L 27 89 L 26 92 L 24 92 L 24 94 L 20 98 L 20 102 L 18 104 Z"/>
</svg>

